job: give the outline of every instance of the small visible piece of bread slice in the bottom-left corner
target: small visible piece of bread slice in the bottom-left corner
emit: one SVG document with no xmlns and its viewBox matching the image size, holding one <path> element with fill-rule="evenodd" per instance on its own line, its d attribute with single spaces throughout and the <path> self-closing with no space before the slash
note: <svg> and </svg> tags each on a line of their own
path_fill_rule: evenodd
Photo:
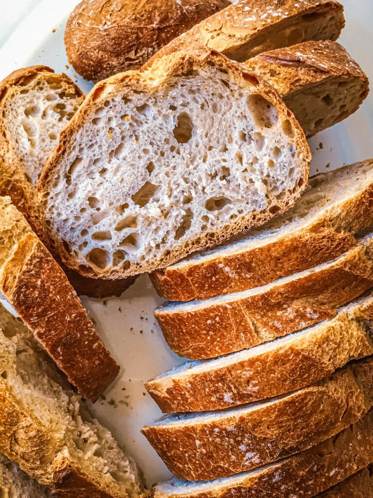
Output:
<svg viewBox="0 0 373 498">
<path fill-rule="evenodd" d="M 52 498 L 52 493 L 30 479 L 17 464 L 0 455 L 0 496 L 1 498 Z"/>
</svg>

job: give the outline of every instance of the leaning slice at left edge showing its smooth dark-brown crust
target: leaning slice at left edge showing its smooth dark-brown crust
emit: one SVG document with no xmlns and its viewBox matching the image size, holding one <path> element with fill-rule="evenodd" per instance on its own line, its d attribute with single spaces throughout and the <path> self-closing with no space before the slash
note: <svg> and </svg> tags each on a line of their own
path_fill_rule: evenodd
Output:
<svg viewBox="0 0 373 498">
<path fill-rule="evenodd" d="M 119 366 L 66 275 L 9 197 L 0 197 L 0 290 L 71 383 L 96 400 Z"/>
</svg>

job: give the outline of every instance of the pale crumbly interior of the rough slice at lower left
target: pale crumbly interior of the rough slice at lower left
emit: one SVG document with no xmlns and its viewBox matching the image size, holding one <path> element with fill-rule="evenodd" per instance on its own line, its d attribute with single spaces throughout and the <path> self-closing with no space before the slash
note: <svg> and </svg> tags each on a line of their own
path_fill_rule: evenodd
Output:
<svg viewBox="0 0 373 498">
<path fill-rule="evenodd" d="M 31 332 L 2 306 L 0 328 L 1 381 L 50 438 L 49 448 L 39 455 L 40 461 L 27 469 L 30 475 L 50 486 L 53 461 L 65 457 L 114 496 L 139 496 L 141 479 L 133 460 L 91 417 L 81 397 L 67 386 Z M 24 467 L 24 462 L 19 463 Z"/>
</svg>

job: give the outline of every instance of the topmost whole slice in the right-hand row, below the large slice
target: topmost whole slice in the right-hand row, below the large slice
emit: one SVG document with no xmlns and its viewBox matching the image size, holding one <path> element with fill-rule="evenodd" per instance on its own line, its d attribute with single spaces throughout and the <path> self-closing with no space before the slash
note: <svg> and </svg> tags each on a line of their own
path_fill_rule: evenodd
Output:
<svg viewBox="0 0 373 498">
<path fill-rule="evenodd" d="M 311 268 L 356 245 L 356 233 L 372 225 L 372 198 L 373 159 L 316 175 L 295 205 L 262 230 L 156 271 L 153 284 L 167 299 L 189 301 Z"/>
</svg>

